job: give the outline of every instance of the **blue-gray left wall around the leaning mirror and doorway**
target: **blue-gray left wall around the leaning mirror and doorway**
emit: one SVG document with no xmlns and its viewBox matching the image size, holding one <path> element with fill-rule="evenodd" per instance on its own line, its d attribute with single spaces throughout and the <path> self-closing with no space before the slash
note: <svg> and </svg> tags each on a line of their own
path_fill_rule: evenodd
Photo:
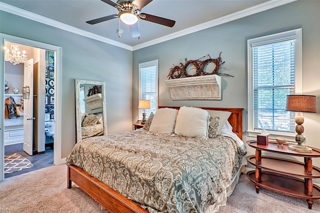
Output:
<svg viewBox="0 0 320 213">
<path fill-rule="evenodd" d="M 76 141 L 74 78 L 105 81 L 108 133 L 131 130 L 132 51 L 0 10 L 0 32 L 62 47 L 62 141 Z"/>
</svg>

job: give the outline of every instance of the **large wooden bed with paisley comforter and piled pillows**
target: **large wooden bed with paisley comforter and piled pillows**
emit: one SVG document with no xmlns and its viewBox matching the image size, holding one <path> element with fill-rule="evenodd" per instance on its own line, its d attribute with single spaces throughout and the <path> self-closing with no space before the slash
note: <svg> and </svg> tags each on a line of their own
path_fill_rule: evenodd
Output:
<svg viewBox="0 0 320 213">
<path fill-rule="evenodd" d="M 161 106 L 158 111 L 168 108 L 172 109 L 170 113 L 179 109 Z M 141 128 L 78 142 L 67 157 L 67 187 L 71 188 L 73 181 L 110 212 L 216 211 L 225 204 L 244 164 L 245 147 L 239 144 L 243 109 L 203 108 L 230 112 L 225 123 L 237 140 L 223 132 L 214 138 L 179 135 L 187 123 L 178 121 L 182 109 L 195 110 L 183 106 L 176 112 L 176 119 L 165 118 L 166 123 L 174 124 L 172 134 L 157 132 L 161 128 L 155 124 L 159 117 L 156 112 L 149 130 Z M 197 120 L 193 118 L 192 122 Z M 197 131 L 196 126 L 195 134 L 202 134 L 202 128 Z"/>
</svg>

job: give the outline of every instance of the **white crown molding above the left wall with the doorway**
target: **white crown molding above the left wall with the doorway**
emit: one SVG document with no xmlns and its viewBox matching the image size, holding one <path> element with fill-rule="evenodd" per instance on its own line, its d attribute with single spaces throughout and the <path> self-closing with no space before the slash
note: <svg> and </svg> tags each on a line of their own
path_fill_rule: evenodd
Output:
<svg viewBox="0 0 320 213">
<path fill-rule="evenodd" d="M 10 4 L 0 2 L 0 10 L 132 51 L 132 46 L 130 45 L 103 37 L 101 35 L 94 34 L 92 32 L 85 31 L 83 29 L 79 29 L 74 26 L 70 26 L 65 23 L 61 23 L 59 21 L 35 14 L 33 12 L 26 11 L 24 9 L 12 6 Z"/>
</svg>

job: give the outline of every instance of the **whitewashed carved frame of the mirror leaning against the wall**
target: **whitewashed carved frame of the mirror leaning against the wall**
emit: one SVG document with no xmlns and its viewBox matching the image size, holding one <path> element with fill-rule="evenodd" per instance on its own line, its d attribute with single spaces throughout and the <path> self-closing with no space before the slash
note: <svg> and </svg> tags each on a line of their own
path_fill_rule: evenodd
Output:
<svg viewBox="0 0 320 213">
<path fill-rule="evenodd" d="M 101 85 L 102 92 L 102 119 L 103 119 L 103 135 L 107 135 L 107 124 L 106 124 L 106 99 L 105 99 L 105 83 L 104 81 L 98 80 L 83 80 L 83 79 L 74 79 L 75 85 L 75 122 L 76 122 L 76 141 L 82 139 L 81 134 L 81 122 L 80 122 L 80 84 L 95 84 Z"/>
</svg>

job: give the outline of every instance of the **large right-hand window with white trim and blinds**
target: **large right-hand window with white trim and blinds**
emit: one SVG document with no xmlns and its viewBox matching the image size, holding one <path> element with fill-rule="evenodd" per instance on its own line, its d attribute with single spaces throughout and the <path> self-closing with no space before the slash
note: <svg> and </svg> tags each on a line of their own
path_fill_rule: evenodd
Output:
<svg viewBox="0 0 320 213">
<path fill-rule="evenodd" d="M 301 29 L 247 40 L 249 136 L 265 129 L 270 138 L 294 140 L 294 112 L 285 103 L 302 91 L 301 42 Z"/>
</svg>

